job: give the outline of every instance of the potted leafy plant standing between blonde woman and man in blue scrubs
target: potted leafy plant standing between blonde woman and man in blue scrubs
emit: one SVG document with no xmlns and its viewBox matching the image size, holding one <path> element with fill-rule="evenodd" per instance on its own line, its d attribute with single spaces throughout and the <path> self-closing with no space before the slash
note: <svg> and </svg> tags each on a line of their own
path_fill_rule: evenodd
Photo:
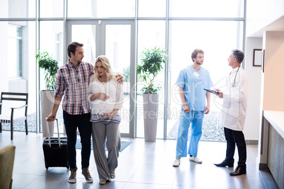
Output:
<svg viewBox="0 0 284 189">
<path fill-rule="evenodd" d="M 146 49 L 141 54 L 141 63 L 136 63 L 136 71 L 139 77 L 146 82 L 143 92 L 144 135 L 146 142 L 155 142 L 157 133 L 157 113 L 159 106 L 160 85 L 155 86 L 154 81 L 158 73 L 162 71 L 167 60 L 167 51 L 155 47 Z"/>
</svg>

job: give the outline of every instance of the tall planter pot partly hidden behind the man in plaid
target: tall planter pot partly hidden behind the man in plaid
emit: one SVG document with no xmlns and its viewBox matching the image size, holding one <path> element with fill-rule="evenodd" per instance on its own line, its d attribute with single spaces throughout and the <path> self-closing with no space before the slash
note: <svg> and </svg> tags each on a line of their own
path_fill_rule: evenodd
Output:
<svg viewBox="0 0 284 189">
<path fill-rule="evenodd" d="M 42 136 L 47 137 L 47 123 L 45 118 L 49 116 L 52 112 L 54 102 L 54 91 L 50 90 L 41 90 L 40 91 L 40 115 L 42 123 Z M 52 137 L 54 135 L 54 121 L 49 122 L 49 134 Z"/>
</svg>

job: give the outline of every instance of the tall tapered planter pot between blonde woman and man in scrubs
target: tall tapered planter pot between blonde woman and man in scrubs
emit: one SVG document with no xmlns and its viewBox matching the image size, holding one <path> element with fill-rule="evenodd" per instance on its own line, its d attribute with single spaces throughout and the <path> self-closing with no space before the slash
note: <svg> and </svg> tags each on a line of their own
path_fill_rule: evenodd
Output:
<svg viewBox="0 0 284 189">
<path fill-rule="evenodd" d="M 143 94 L 143 103 L 145 142 L 155 142 L 159 94 Z"/>
</svg>

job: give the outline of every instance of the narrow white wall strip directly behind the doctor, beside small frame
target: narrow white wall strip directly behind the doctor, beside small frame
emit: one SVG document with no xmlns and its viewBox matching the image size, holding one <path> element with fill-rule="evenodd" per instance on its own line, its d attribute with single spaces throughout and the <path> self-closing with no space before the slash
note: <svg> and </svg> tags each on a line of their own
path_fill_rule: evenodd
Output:
<svg viewBox="0 0 284 189">
<path fill-rule="evenodd" d="M 244 137 L 246 140 L 259 140 L 261 67 L 253 66 L 253 54 L 254 49 L 262 49 L 262 37 L 247 37 L 246 41 L 244 69 L 249 75 L 249 97 Z"/>
</svg>

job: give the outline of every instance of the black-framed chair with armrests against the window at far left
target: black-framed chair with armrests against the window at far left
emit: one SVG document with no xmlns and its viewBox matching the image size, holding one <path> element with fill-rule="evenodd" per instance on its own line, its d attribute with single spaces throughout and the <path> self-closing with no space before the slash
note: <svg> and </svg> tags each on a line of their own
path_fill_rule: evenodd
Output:
<svg viewBox="0 0 284 189">
<path fill-rule="evenodd" d="M 4 101 L 10 102 L 25 102 L 25 105 L 19 107 L 11 107 L 11 114 L 2 114 L 2 106 Z M 6 103 L 6 102 L 5 102 Z M 25 113 L 23 112 L 16 113 L 16 109 L 25 108 Z M 13 140 L 13 123 L 16 121 L 25 121 L 25 134 L 28 135 L 28 93 L 21 92 L 1 92 L 1 101 L 0 101 L 0 133 L 2 133 L 2 123 L 11 124 L 11 140 Z"/>
</svg>

